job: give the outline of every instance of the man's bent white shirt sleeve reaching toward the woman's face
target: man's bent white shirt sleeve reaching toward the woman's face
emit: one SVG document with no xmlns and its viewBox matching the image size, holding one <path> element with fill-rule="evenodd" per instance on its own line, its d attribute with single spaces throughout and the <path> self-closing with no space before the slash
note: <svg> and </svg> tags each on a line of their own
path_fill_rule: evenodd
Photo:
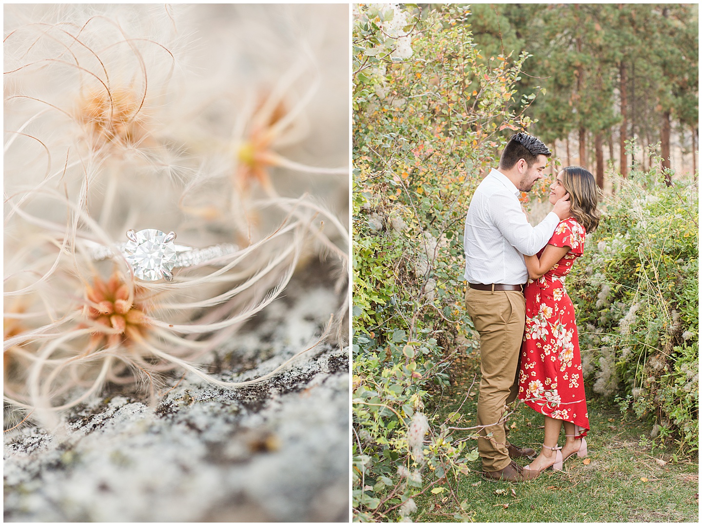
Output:
<svg viewBox="0 0 702 526">
<path fill-rule="evenodd" d="M 553 230 L 560 221 L 549 212 L 535 227 L 529 224 L 519 206 L 517 196 L 508 191 L 495 192 L 490 198 L 490 217 L 508 242 L 526 256 L 534 256 L 548 243 Z"/>
</svg>

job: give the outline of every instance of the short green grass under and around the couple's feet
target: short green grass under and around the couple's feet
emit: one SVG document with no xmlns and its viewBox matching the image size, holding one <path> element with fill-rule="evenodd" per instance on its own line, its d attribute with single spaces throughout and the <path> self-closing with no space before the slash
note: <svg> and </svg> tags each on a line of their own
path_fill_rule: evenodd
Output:
<svg viewBox="0 0 702 526">
<path fill-rule="evenodd" d="M 458 409 L 476 369 L 476 355 L 453 364 L 451 390 L 434 397 L 437 415 L 445 418 Z M 461 408 L 463 418 L 453 426 L 475 426 L 478 380 L 470 390 L 474 395 Z M 647 440 L 650 424 L 623 416 L 591 396 L 588 412 L 588 456 L 572 456 L 562 472 L 548 470 L 531 482 L 492 482 L 479 474 L 478 459 L 468 475 L 449 475 L 458 501 L 465 501 L 463 515 L 475 522 L 698 522 L 696 456 L 676 460 L 672 449 L 653 449 Z M 538 452 L 542 426 L 543 415 L 521 405 L 510 416 L 510 441 Z M 453 440 L 466 436 L 456 431 Z M 469 444 L 477 447 L 475 440 Z M 425 482 L 430 480 L 425 477 Z M 458 504 L 447 494 L 418 497 L 419 513 L 413 520 L 458 522 Z"/>
</svg>

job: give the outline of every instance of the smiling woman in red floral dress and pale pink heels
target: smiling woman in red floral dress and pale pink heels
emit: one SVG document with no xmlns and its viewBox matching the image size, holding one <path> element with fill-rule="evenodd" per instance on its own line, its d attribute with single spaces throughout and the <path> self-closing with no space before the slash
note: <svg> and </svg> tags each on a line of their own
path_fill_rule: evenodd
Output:
<svg viewBox="0 0 702 526">
<path fill-rule="evenodd" d="M 568 166 L 556 177 L 548 197 L 555 203 L 570 196 L 571 217 L 561 221 L 548 244 L 536 256 L 524 256 L 529 282 L 524 289 L 527 322 L 519 369 L 519 398 L 545 415 L 541 453 L 525 469 L 560 471 L 574 454 L 585 456 L 590 429 L 585 405 L 583 367 L 573 303 L 564 288 L 565 277 L 583 255 L 585 233 L 600 222 L 597 186 L 592 173 Z M 561 425 L 566 442 L 558 447 Z"/>
</svg>

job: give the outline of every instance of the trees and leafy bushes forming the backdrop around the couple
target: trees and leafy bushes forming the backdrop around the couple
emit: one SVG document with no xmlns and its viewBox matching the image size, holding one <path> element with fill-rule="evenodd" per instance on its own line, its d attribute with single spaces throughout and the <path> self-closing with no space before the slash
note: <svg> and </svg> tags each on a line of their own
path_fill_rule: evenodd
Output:
<svg viewBox="0 0 702 526">
<path fill-rule="evenodd" d="M 421 506 L 417 517 L 443 506 L 475 519 L 478 482 L 459 482 L 479 470 L 477 383 L 450 411 L 441 401 L 460 376 L 451 366 L 479 360 L 463 305 L 465 212 L 516 131 L 552 147 L 548 172 L 581 164 L 603 189 L 600 228 L 567 282 L 588 405 L 646 427 L 647 453 L 668 455 L 656 461 L 696 458 L 697 10 L 355 6 L 357 520 L 410 520 Z M 543 183 L 522 196 L 527 209 Z"/>
</svg>

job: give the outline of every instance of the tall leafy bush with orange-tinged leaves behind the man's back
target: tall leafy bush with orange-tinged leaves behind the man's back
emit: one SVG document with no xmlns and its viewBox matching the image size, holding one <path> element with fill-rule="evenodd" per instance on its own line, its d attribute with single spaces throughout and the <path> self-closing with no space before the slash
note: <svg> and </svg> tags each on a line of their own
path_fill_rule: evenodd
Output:
<svg viewBox="0 0 702 526">
<path fill-rule="evenodd" d="M 506 107 L 527 55 L 484 60 L 458 6 L 355 9 L 353 508 L 407 519 L 418 494 L 456 499 L 446 475 L 477 459 L 424 407 L 459 338 L 477 346 L 461 232 L 503 130 L 531 123 Z"/>
</svg>

